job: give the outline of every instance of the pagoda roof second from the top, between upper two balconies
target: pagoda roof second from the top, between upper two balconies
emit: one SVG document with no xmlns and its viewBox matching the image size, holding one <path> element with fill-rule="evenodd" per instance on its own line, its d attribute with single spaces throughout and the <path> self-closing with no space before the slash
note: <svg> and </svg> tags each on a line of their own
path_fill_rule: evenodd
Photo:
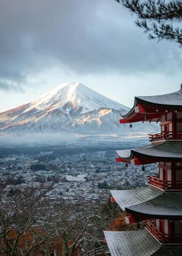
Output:
<svg viewBox="0 0 182 256">
<path fill-rule="evenodd" d="M 135 165 L 142 163 L 153 163 L 165 159 L 166 161 L 182 160 L 182 143 L 164 142 L 162 144 L 151 144 L 131 150 L 117 150 L 116 153 L 122 161 L 129 162 L 134 159 Z M 140 159 L 136 161 L 135 159 Z M 141 163 L 140 163 L 141 162 Z"/>
</svg>

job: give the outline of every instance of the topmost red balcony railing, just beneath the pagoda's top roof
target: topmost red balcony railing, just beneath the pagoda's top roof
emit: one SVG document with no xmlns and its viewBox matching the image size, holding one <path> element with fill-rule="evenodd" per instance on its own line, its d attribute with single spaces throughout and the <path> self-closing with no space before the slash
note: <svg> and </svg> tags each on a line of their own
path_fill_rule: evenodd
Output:
<svg viewBox="0 0 182 256">
<path fill-rule="evenodd" d="M 182 140 L 182 133 L 173 133 L 173 132 L 168 132 L 168 133 L 156 133 L 155 135 L 149 135 L 149 141 L 150 142 L 155 142 L 159 140 Z"/>
</svg>

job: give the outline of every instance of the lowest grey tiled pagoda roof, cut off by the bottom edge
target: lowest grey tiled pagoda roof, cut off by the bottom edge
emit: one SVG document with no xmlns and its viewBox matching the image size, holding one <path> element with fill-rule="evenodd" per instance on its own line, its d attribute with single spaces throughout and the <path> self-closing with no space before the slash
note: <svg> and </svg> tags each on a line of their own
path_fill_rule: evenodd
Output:
<svg viewBox="0 0 182 256">
<path fill-rule="evenodd" d="M 146 229 L 104 231 L 111 256 L 179 256 L 181 247 L 163 247 Z"/>
</svg>

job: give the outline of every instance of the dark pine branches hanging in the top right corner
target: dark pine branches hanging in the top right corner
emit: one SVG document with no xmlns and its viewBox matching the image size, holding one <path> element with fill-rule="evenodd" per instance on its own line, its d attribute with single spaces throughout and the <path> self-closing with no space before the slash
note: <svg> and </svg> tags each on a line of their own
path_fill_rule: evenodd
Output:
<svg viewBox="0 0 182 256">
<path fill-rule="evenodd" d="M 137 16 L 136 25 L 149 39 L 172 40 L 182 45 L 182 1 L 115 0 Z"/>
</svg>

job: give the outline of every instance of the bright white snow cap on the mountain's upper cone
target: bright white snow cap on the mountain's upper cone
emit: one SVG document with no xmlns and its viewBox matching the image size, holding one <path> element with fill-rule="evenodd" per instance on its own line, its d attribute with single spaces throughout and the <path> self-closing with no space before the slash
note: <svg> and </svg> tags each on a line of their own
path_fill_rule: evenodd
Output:
<svg viewBox="0 0 182 256">
<path fill-rule="evenodd" d="M 32 108 L 44 110 L 47 107 L 59 108 L 68 115 L 83 114 L 99 108 L 114 108 L 121 111 L 129 109 L 79 82 L 61 84 L 49 93 L 32 101 L 25 111 L 32 110 Z"/>
</svg>

